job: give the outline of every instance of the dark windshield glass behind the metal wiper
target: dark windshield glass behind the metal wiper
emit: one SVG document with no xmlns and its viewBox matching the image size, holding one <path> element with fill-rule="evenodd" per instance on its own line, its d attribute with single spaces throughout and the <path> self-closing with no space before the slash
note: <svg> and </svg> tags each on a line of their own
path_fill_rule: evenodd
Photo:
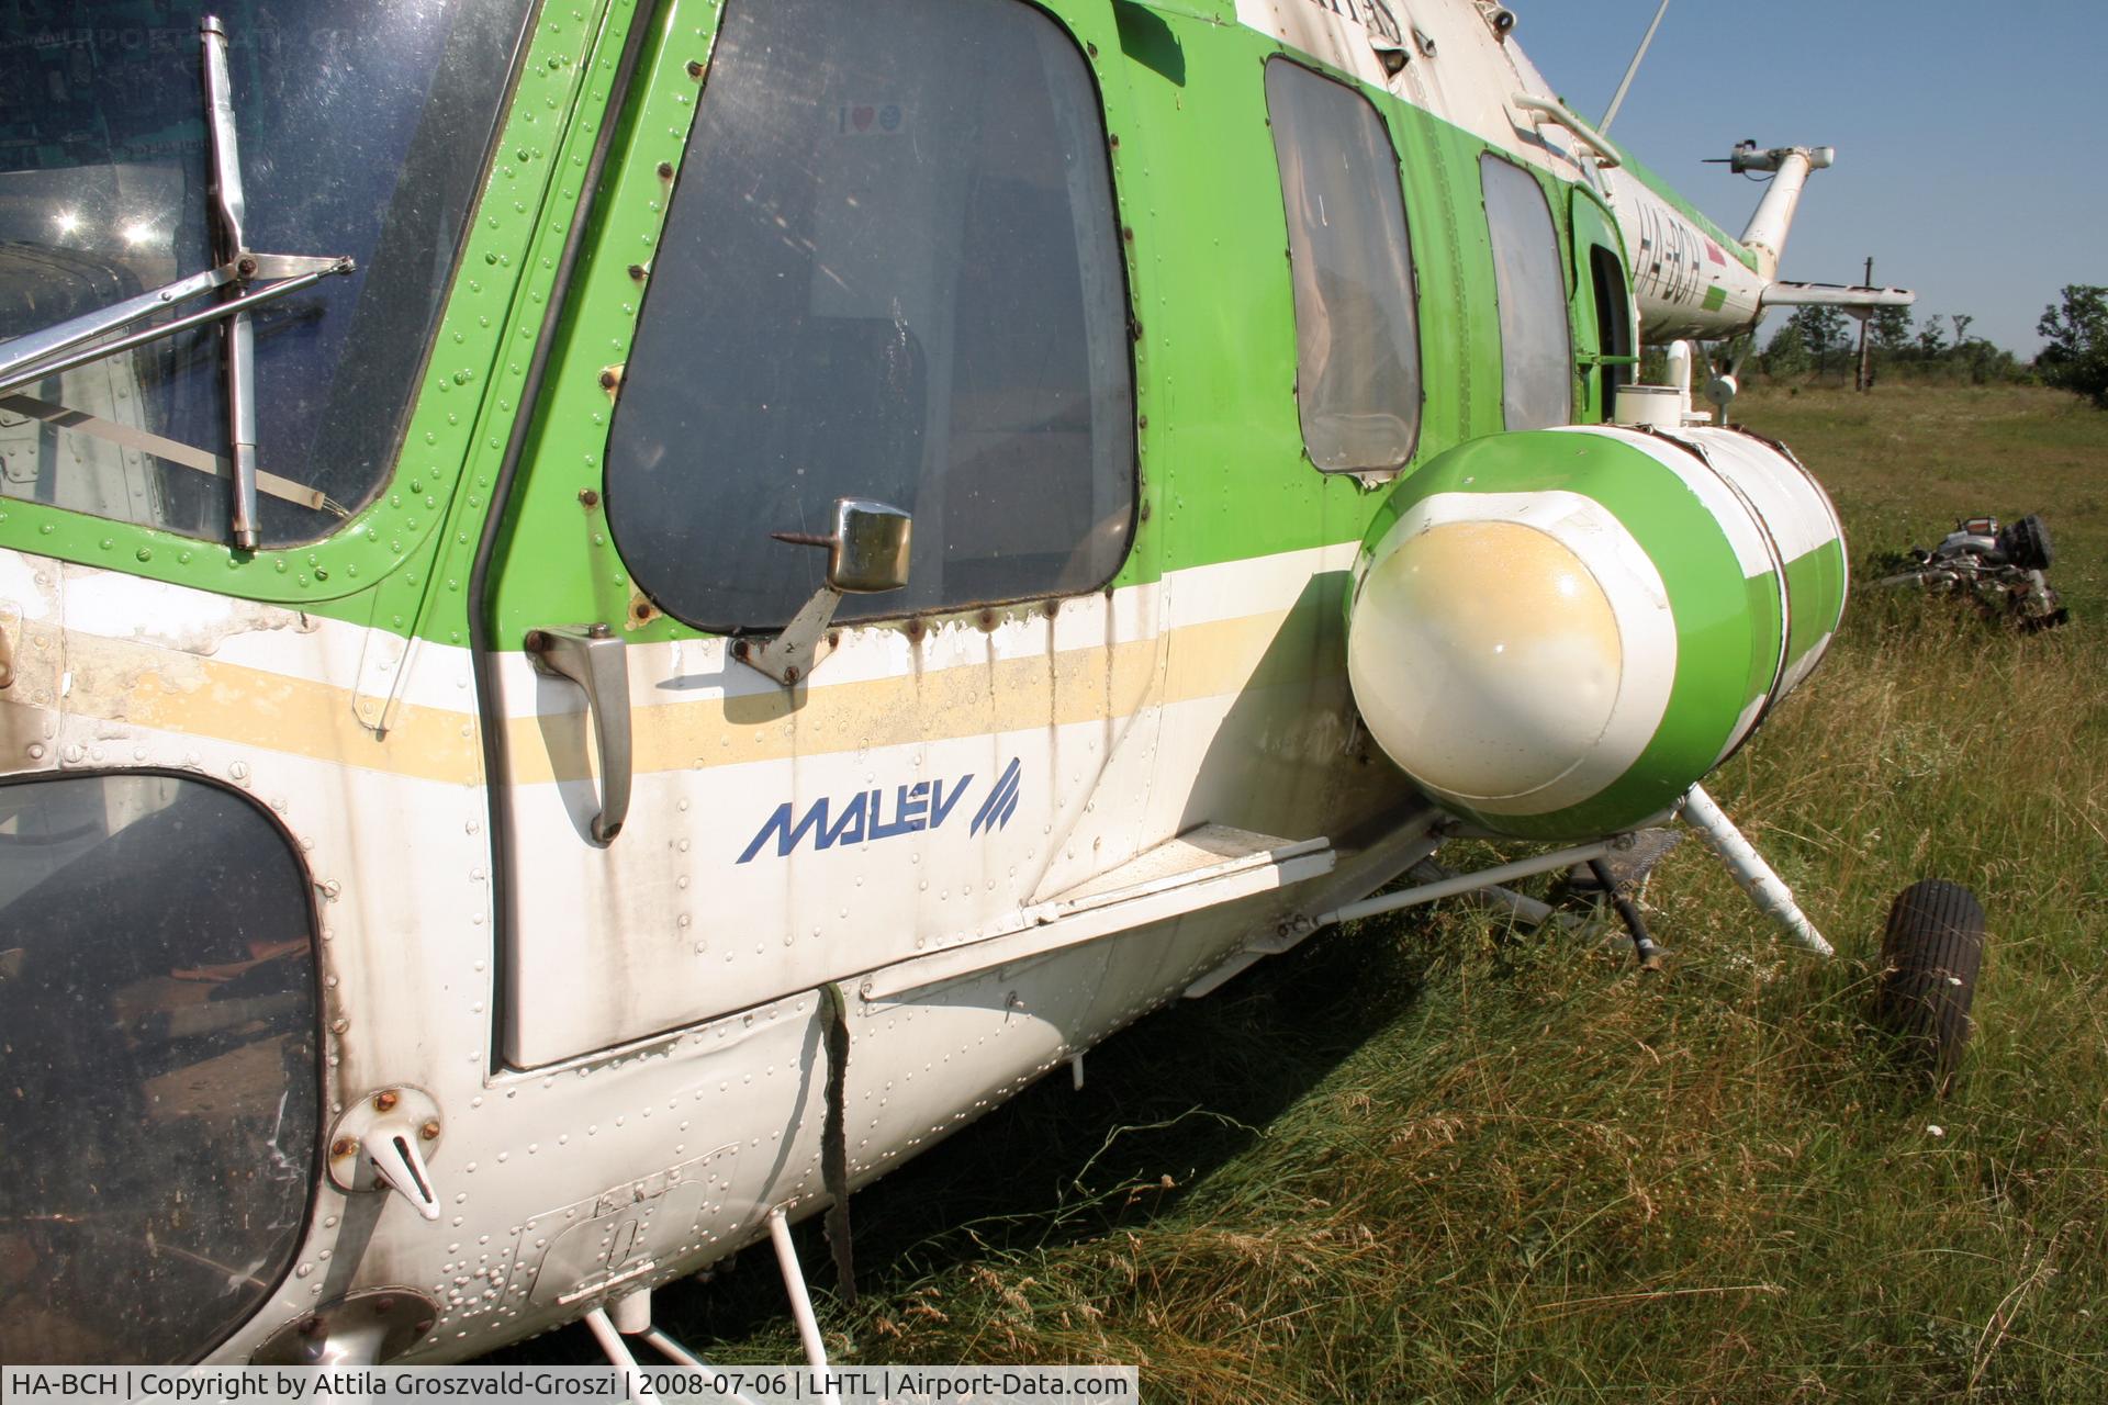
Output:
<svg viewBox="0 0 2108 1405">
<path fill-rule="evenodd" d="M 356 265 L 253 314 L 264 539 L 327 535 L 394 459 L 527 4 L 0 0 L 0 354 L 215 265 L 200 21 L 217 15 L 245 244 Z M 0 394 L 0 495 L 223 539 L 223 337 L 196 326 Z"/>
</svg>

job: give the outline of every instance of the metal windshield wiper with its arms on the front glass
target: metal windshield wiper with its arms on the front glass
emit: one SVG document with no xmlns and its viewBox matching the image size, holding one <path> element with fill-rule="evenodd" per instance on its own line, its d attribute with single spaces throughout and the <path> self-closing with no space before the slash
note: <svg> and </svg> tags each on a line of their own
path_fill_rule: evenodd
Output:
<svg viewBox="0 0 2108 1405">
<path fill-rule="evenodd" d="M 213 259 L 202 274 L 177 278 L 160 289 L 126 297 L 110 308 L 84 312 L 57 326 L 0 343 L 0 396 L 48 375 L 59 375 L 135 345 L 173 337 L 179 331 L 226 320 L 223 373 L 228 385 L 228 472 L 232 478 L 230 527 L 234 548 L 257 548 L 257 402 L 253 308 L 297 293 L 331 274 L 356 272 L 348 255 L 257 253 L 242 238 L 247 202 L 242 162 L 234 139 L 234 91 L 228 78 L 228 29 L 217 17 L 198 23 L 204 59 L 204 128 L 213 145 Z M 112 341 L 99 341 L 156 312 L 219 293 L 219 301 L 198 312 L 158 322 Z"/>
</svg>

